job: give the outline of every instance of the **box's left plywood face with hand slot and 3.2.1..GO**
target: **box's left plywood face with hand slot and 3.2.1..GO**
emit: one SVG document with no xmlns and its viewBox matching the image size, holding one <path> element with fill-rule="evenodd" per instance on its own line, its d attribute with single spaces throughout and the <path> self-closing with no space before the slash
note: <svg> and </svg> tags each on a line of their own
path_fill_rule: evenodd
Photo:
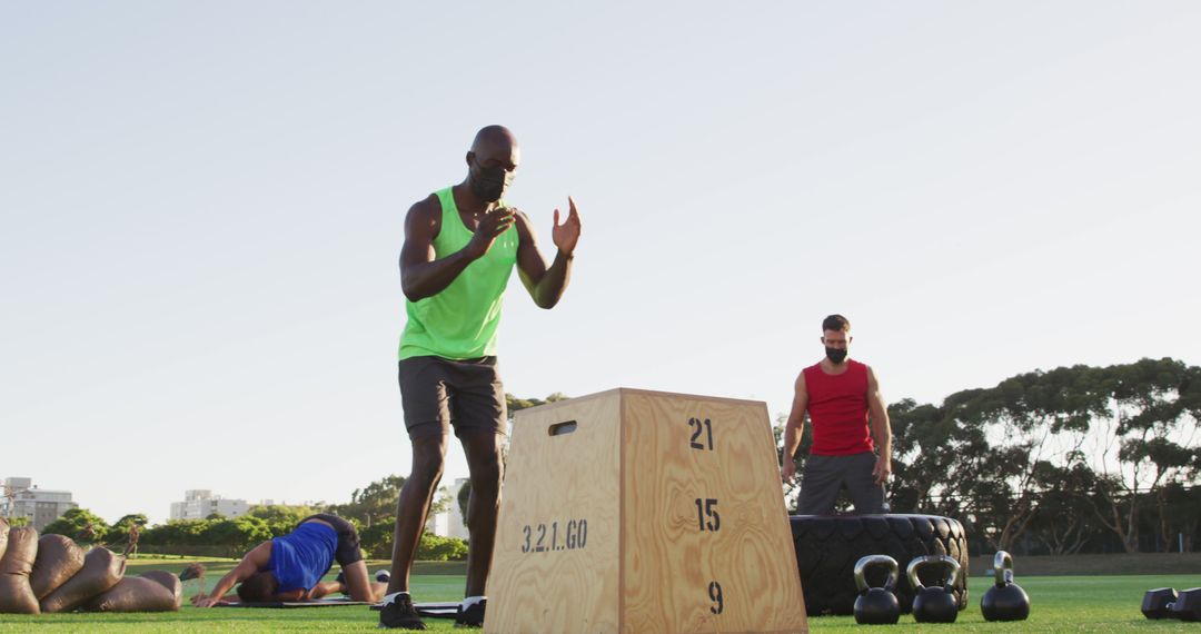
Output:
<svg viewBox="0 0 1201 634">
<path fill-rule="evenodd" d="M 485 632 L 617 632 L 619 405 L 610 391 L 514 415 Z M 550 435 L 567 421 L 574 431 Z M 580 520 L 584 548 L 576 533 L 568 549 L 567 527 L 579 531 Z"/>
</svg>

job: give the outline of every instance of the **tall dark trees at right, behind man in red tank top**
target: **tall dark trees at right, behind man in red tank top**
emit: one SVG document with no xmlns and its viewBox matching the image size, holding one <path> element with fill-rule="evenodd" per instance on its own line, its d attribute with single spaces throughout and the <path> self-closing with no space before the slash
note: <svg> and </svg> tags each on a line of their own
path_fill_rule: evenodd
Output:
<svg viewBox="0 0 1201 634">
<path fill-rule="evenodd" d="M 1034 371 L 939 405 L 903 399 L 889 418 L 891 512 L 955 518 L 975 552 L 1201 544 L 1201 367 L 1165 358 Z"/>
</svg>

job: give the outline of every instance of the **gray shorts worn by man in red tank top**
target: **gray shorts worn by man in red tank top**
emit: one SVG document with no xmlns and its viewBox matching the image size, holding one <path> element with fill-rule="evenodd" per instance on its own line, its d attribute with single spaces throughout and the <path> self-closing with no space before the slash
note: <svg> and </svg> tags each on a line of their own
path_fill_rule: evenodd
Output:
<svg viewBox="0 0 1201 634">
<path fill-rule="evenodd" d="M 855 503 L 856 515 L 886 513 L 884 485 L 872 477 L 876 454 L 864 451 L 848 456 L 811 455 L 805 460 L 801 497 L 796 503 L 800 515 L 831 515 L 838 490 L 843 485 Z"/>
</svg>

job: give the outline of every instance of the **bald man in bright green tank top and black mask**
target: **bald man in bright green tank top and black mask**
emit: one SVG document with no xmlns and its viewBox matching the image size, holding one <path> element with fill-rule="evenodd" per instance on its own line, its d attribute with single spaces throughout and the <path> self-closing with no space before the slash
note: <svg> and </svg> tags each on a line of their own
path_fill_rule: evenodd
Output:
<svg viewBox="0 0 1201 634">
<path fill-rule="evenodd" d="M 398 357 L 413 469 L 396 507 L 381 627 L 425 629 L 408 594 L 408 573 L 442 478 L 452 429 L 471 472 L 467 588 L 455 621 L 464 626 L 484 621 L 507 419 L 496 371 L 504 288 L 516 265 L 534 304 L 554 307 L 567 288 L 580 238 L 580 216 L 568 197 L 562 223 L 555 210 L 551 239 L 558 252 L 546 267 L 530 219 L 504 201 L 519 161 L 512 132 L 502 126 L 480 130 L 467 152 L 467 178 L 414 204 L 405 219 L 400 276 L 408 321 Z"/>
</svg>

